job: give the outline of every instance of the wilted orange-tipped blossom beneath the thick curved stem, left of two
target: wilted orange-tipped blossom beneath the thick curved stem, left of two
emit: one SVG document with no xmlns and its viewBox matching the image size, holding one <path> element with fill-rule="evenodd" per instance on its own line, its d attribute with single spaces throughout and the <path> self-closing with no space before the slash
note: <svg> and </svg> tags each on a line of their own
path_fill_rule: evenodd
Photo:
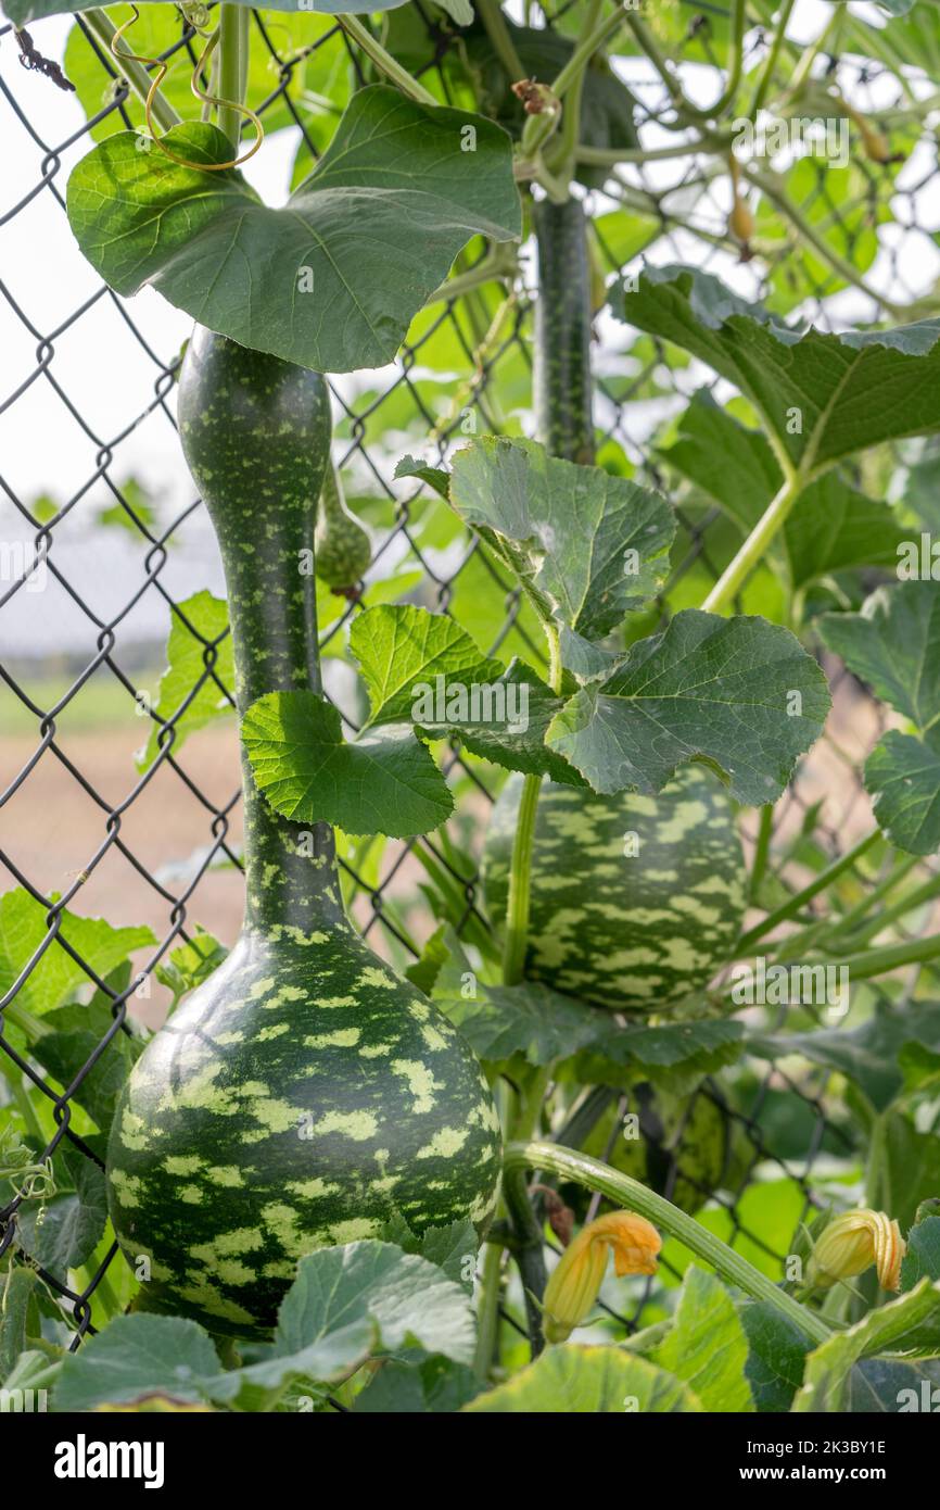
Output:
<svg viewBox="0 0 940 1510">
<path fill-rule="evenodd" d="M 597 1299 L 611 1247 L 617 1274 L 655 1274 L 662 1238 L 634 1211 L 611 1211 L 588 1222 L 564 1249 L 545 1287 L 542 1326 L 546 1342 L 564 1342 L 584 1321 Z"/>
</svg>

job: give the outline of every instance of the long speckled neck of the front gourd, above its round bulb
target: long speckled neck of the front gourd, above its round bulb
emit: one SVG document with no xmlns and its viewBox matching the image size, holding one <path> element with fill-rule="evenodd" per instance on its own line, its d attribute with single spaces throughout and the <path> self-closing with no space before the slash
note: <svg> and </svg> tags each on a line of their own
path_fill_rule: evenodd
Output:
<svg viewBox="0 0 940 1510">
<path fill-rule="evenodd" d="M 329 461 L 318 373 L 196 329 L 180 381 L 183 448 L 225 568 L 238 714 L 270 692 L 321 693 L 314 527 Z M 349 929 L 329 823 L 275 812 L 241 749 L 244 927 Z"/>
</svg>

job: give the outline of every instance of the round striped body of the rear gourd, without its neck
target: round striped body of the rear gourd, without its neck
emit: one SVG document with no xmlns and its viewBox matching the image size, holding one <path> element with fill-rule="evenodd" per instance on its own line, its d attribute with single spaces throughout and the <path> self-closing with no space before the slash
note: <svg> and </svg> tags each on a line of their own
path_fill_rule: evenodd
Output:
<svg viewBox="0 0 940 1510">
<path fill-rule="evenodd" d="M 483 852 L 490 918 L 502 918 L 519 806 L 510 776 Z M 599 797 L 545 784 L 536 814 L 525 974 L 617 1012 L 664 1012 L 729 959 L 744 912 L 730 799 L 702 766 L 658 796 Z"/>
</svg>

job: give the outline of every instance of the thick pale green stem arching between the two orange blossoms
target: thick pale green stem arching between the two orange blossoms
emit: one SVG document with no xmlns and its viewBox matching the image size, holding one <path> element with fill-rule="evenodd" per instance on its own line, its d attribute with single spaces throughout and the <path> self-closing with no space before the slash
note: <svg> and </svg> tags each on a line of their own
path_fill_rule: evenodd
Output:
<svg viewBox="0 0 940 1510">
<path fill-rule="evenodd" d="M 671 1200 L 665 1200 L 664 1196 L 647 1190 L 638 1179 L 631 1179 L 629 1175 L 622 1175 L 608 1164 L 602 1164 L 599 1158 L 590 1158 L 587 1154 L 575 1152 L 575 1149 L 561 1148 L 558 1143 L 510 1143 L 502 1163 L 507 1200 L 511 1190 L 518 1191 L 522 1188 L 522 1194 L 525 1196 L 527 1169 L 545 1169 L 552 1175 L 561 1175 L 563 1179 L 573 1179 L 579 1185 L 607 1196 L 608 1200 L 616 1200 L 617 1205 L 629 1211 L 637 1211 L 641 1217 L 668 1232 L 670 1237 L 683 1243 L 696 1258 L 702 1258 L 706 1264 L 711 1264 L 721 1279 L 726 1279 L 730 1285 L 736 1285 L 738 1290 L 742 1290 L 754 1300 L 763 1300 L 766 1305 L 774 1306 L 776 1311 L 798 1326 L 815 1342 L 825 1342 L 831 1336 L 830 1327 L 822 1317 L 800 1305 L 798 1300 L 794 1300 L 792 1296 L 780 1290 L 766 1274 L 762 1274 L 759 1268 L 754 1268 L 745 1258 L 735 1253 L 727 1243 L 723 1243 L 721 1238 L 706 1231 L 699 1222 L 687 1216 L 685 1211 L 679 1211 Z"/>
</svg>

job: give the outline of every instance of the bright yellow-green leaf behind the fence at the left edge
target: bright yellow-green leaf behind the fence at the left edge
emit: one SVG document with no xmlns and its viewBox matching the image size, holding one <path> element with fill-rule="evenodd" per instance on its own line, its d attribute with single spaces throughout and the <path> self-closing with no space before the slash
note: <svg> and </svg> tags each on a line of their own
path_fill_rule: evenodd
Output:
<svg viewBox="0 0 940 1510">
<path fill-rule="evenodd" d="M 6 995 L 20 972 L 48 935 L 47 909 L 21 888 L 0 897 L 0 997 Z M 17 994 L 17 1004 L 29 1012 L 51 1012 L 63 1006 L 80 988 L 89 985 L 81 965 L 59 942 L 68 944 L 95 974 L 106 975 L 137 948 L 157 939 L 148 927 L 115 929 L 104 918 L 81 918 L 63 908 L 56 938 L 47 947 Z"/>
</svg>

